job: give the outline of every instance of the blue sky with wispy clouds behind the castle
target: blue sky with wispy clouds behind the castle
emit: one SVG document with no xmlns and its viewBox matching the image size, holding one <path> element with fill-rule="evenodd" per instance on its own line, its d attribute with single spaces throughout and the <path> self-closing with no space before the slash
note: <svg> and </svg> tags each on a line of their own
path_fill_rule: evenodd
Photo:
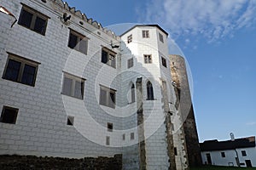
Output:
<svg viewBox="0 0 256 170">
<path fill-rule="evenodd" d="M 130 0 L 67 3 L 103 27 L 158 24 L 188 60 L 200 141 L 256 135 L 256 1 Z M 170 52 L 172 54 L 172 52 Z"/>
</svg>

